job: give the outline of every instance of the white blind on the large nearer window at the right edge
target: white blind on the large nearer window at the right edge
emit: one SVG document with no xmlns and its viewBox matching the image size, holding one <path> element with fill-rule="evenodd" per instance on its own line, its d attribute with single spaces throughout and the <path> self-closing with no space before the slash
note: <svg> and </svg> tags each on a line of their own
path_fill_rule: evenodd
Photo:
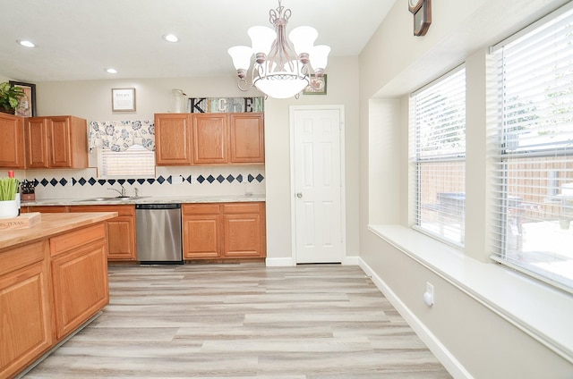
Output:
<svg viewBox="0 0 573 379">
<path fill-rule="evenodd" d="M 492 47 L 495 260 L 573 290 L 573 10 Z"/>
</svg>

